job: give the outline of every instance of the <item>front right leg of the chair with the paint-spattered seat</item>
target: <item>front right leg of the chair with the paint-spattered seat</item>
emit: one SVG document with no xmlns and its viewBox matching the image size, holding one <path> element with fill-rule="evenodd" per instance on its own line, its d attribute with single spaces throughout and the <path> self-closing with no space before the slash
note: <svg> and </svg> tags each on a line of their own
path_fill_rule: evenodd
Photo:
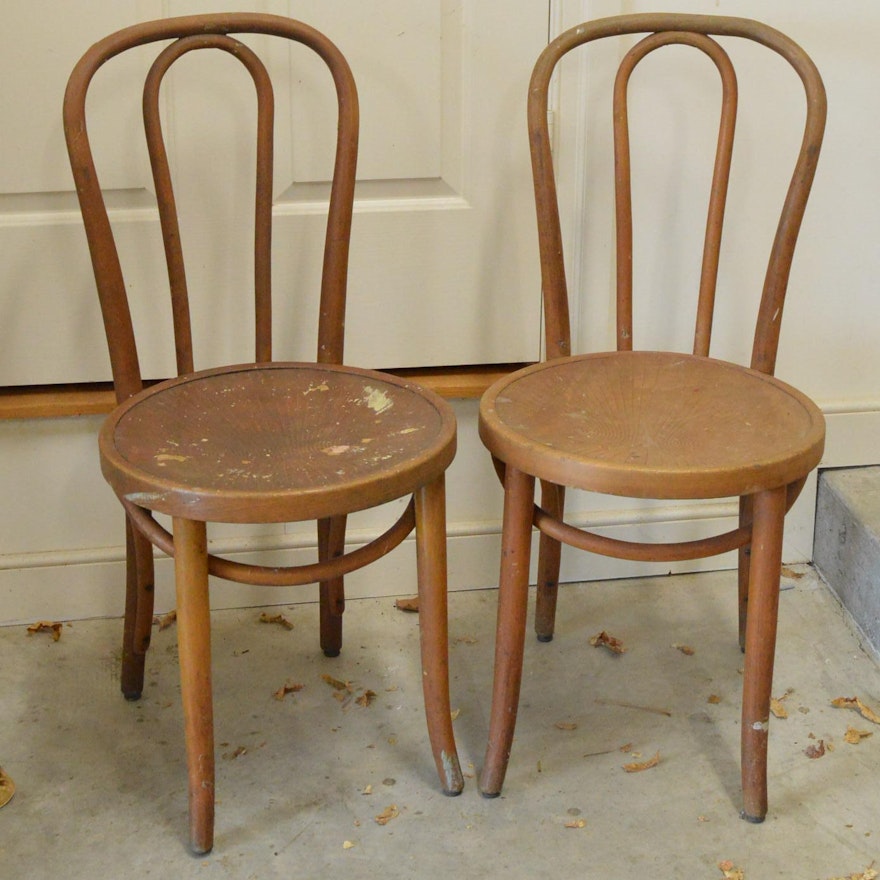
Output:
<svg viewBox="0 0 880 880">
<path fill-rule="evenodd" d="M 449 704 L 446 484 L 442 474 L 415 493 L 415 514 L 422 688 L 428 737 L 443 793 L 456 795 L 464 788 L 464 777 L 455 748 Z"/>
</svg>

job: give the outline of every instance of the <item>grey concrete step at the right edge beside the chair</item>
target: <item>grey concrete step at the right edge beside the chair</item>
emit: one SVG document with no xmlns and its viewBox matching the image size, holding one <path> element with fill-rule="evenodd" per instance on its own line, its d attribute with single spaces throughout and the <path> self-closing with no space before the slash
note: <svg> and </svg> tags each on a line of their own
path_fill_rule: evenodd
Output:
<svg viewBox="0 0 880 880">
<path fill-rule="evenodd" d="M 880 467 L 820 474 L 813 561 L 880 655 Z"/>
</svg>

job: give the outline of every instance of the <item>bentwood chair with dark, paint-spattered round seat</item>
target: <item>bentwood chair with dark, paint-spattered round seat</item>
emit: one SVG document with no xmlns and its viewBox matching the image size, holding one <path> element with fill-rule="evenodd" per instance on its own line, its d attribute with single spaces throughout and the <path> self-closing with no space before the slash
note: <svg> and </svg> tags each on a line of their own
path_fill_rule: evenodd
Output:
<svg viewBox="0 0 880 880">
<path fill-rule="evenodd" d="M 272 361 L 270 237 L 273 95 L 262 62 L 233 33 L 302 43 L 326 63 L 338 99 L 338 139 L 324 249 L 317 358 Z M 86 134 L 86 91 L 98 68 L 127 49 L 173 40 L 144 89 L 144 120 L 171 287 L 178 377 L 144 387 L 117 248 Z M 253 78 L 258 103 L 255 363 L 194 372 L 190 309 L 163 136 L 162 78 L 178 58 L 219 49 Z M 118 407 L 100 434 L 101 466 L 127 514 L 128 576 L 122 690 L 137 699 L 152 623 L 152 544 L 174 556 L 193 850 L 213 844 L 214 742 L 208 575 L 261 585 L 320 582 L 321 647 L 341 647 L 343 576 L 416 531 L 421 653 L 428 730 L 447 794 L 463 780 L 449 711 L 444 473 L 455 452 L 451 408 L 416 385 L 341 366 L 358 141 L 357 92 L 322 34 L 263 14 L 201 15 L 121 30 L 89 49 L 64 99 L 64 127 L 104 316 Z M 412 495 L 381 537 L 345 552 L 346 514 Z M 153 513 L 172 518 L 173 534 Z M 206 523 L 314 519 L 319 559 L 259 567 L 207 552 Z"/>
</svg>

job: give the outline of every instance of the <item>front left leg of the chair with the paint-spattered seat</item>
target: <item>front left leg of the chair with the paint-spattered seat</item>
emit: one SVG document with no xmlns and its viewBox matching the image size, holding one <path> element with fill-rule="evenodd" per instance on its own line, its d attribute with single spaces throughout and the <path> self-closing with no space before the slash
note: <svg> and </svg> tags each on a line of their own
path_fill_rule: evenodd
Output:
<svg viewBox="0 0 880 880">
<path fill-rule="evenodd" d="M 214 715 L 205 523 L 175 517 L 174 575 L 189 770 L 190 846 L 195 853 L 207 853 L 214 845 Z"/>
</svg>

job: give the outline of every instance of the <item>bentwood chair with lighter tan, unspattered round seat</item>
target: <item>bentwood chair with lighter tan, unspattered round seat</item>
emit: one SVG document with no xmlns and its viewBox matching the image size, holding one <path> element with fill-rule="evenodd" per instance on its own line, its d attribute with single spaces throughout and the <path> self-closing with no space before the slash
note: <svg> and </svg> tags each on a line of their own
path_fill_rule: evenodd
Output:
<svg viewBox="0 0 880 880">
<path fill-rule="evenodd" d="M 602 37 L 642 34 L 624 56 L 614 87 L 617 221 L 617 350 L 572 356 L 562 238 L 547 125 L 555 65 Z M 709 358 L 709 338 L 736 113 L 736 78 L 711 35 L 743 37 L 786 59 L 807 97 L 806 126 L 773 242 L 751 364 Z M 632 215 L 627 81 L 635 65 L 672 43 L 708 55 L 723 83 L 721 126 L 707 221 L 692 354 L 632 350 Z M 532 526 L 541 532 L 536 631 L 553 637 L 560 543 L 626 559 L 682 560 L 739 548 L 744 818 L 767 811 L 767 734 L 783 518 L 819 462 L 824 420 L 794 388 L 773 378 L 783 299 L 795 240 L 825 123 L 821 79 L 807 55 L 770 27 L 736 18 L 645 14 L 588 22 L 539 57 L 528 127 L 537 201 L 546 360 L 496 382 L 480 408 L 480 436 L 504 483 L 504 521 L 495 684 L 480 786 L 501 791 L 522 676 Z M 540 505 L 534 483 L 541 482 Z M 631 543 L 563 521 L 564 487 L 638 498 L 739 498 L 738 528 L 679 544 Z M 746 612 L 748 612 L 746 614 Z"/>
</svg>

